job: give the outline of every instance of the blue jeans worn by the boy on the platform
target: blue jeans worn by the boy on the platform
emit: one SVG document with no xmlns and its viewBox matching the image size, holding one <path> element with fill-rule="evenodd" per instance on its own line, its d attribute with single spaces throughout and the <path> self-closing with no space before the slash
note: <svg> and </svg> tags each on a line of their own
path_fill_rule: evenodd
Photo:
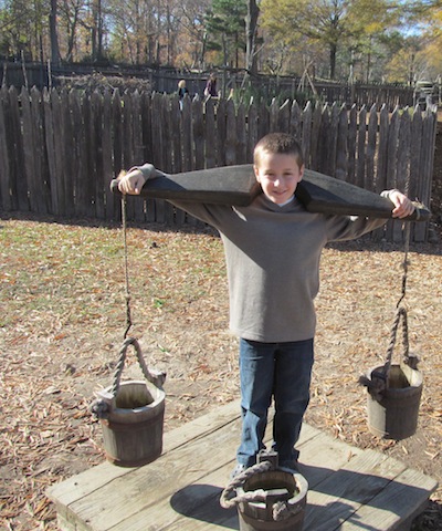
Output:
<svg viewBox="0 0 442 531">
<path fill-rule="evenodd" d="M 275 403 L 273 445 L 281 466 L 297 461 L 294 446 L 309 402 L 314 341 L 260 343 L 240 340 L 242 436 L 238 462 L 250 467 L 265 448 L 267 410 Z"/>
</svg>

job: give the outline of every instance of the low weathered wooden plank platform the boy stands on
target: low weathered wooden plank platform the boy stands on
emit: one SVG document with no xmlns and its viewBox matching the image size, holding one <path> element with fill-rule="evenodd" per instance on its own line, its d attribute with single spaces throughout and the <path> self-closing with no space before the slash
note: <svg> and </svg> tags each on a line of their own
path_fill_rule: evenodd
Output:
<svg viewBox="0 0 442 531">
<path fill-rule="evenodd" d="M 240 437 L 239 403 L 164 436 L 164 454 L 138 469 L 104 462 L 53 486 L 61 530 L 238 530 L 219 504 Z M 301 473 L 309 483 L 304 530 L 408 530 L 436 481 L 373 450 L 305 425 Z"/>
</svg>

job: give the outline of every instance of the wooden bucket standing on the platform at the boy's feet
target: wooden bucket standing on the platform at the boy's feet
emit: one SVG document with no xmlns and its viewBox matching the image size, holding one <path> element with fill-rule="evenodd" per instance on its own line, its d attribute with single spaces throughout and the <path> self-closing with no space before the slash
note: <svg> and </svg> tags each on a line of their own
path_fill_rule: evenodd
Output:
<svg viewBox="0 0 442 531">
<path fill-rule="evenodd" d="M 240 531 L 301 531 L 304 524 L 308 483 L 301 473 L 288 473 L 282 470 L 270 470 L 251 476 L 236 494 L 263 489 L 266 491 L 286 489 L 290 499 L 286 501 L 288 516 L 275 520 L 273 503 L 242 501 L 238 507 Z"/>
</svg>

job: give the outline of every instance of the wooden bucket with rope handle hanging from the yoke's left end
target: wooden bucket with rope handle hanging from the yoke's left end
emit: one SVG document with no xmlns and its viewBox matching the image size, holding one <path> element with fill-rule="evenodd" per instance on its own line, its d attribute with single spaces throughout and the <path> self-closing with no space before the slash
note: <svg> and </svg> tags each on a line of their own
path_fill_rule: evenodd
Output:
<svg viewBox="0 0 442 531">
<path fill-rule="evenodd" d="M 120 383 L 128 345 L 134 345 L 146 381 Z M 157 459 L 162 451 L 165 373 L 150 372 L 138 342 L 125 340 L 114 384 L 96 393 L 98 400 L 92 410 L 103 428 L 106 459 L 120 467 L 140 467 Z"/>
</svg>

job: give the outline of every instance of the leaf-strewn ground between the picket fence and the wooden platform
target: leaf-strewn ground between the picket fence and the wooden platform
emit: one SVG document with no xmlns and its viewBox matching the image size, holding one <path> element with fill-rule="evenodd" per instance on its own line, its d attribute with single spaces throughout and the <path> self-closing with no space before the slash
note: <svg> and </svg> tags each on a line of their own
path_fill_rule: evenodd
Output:
<svg viewBox="0 0 442 531">
<path fill-rule="evenodd" d="M 367 428 L 359 375 L 382 364 L 401 293 L 403 247 L 361 239 L 325 250 L 312 403 L 306 421 L 433 476 L 442 486 L 442 133 L 434 169 L 433 242 L 412 244 L 410 346 L 424 375 L 414 436 Z M 0 529 L 56 528 L 45 489 L 104 460 L 88 412 L 110 385 L 125 330 L 119 227 L 0 219 Z M 165 369 L 165 431 L 239 397 L 222 246 L 211 231 L 128 230 L 131 336 Z M 396 355 L 400 355 L 401 345 Z M 128 360 L 124 375 L 140 375 Z M 233 456 L 232 456 L 233 457 Z M 227 478 L 228 479 L 228 478 Z M 442 530 L 442 489 L 414 530 Z"/>
</svg>

